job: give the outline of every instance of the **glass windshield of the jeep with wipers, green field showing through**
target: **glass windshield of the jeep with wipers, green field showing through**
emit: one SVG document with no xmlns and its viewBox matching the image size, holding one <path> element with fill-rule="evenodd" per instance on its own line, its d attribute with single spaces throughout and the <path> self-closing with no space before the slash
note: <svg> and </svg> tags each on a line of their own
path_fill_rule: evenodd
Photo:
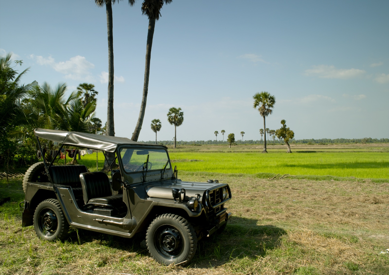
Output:
<svg viewBox="0 0 389 275">
<path fill-rule="evenodd" d="M 120 156 L 127 173 L 170 169 L 167 152 L 163 149 L 122 148 Z"/>
</svg>

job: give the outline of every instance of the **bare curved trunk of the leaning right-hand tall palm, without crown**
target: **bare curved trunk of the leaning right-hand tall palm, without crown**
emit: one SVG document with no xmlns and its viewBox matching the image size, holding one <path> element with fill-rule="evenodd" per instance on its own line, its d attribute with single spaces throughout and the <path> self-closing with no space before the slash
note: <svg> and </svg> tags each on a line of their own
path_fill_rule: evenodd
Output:
<svg viewBox="0 0 389 275">
<path fill-rule="evenodd" d="M 147 43 L 146 43 L 146 63 L 145 63 L 145 79 L 143 82 L 143 96 L 142 103 L 140 104 L 140 111 L 137 125 L 135 126 L 134 133 L 131 139 L 138 141 L 140 129 L 142 129 L 143 118 L 145 116 L 147 92 L 149 91 L 149 75 L 150 75 L 150 59 L 151 59 L 151 46 L 152 37 L 154 36 L 155 19 L 149 19 L 149 31 L 147 32 Z"/>
</svg>

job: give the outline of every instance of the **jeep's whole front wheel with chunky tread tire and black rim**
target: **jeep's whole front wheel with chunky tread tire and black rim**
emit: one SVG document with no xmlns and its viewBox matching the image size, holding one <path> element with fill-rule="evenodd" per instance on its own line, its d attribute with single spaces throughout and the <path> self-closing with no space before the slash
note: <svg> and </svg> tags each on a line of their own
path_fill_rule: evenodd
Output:
<svg viewBox="0 0 389 275">
<path fill-rule="evenodd" d="M 147 229 L 146 245 L 158 263 L 184 266 L 195 256 L 197 236 L 185 218 L 163 214 L 155 218 Z"/>
</svg>

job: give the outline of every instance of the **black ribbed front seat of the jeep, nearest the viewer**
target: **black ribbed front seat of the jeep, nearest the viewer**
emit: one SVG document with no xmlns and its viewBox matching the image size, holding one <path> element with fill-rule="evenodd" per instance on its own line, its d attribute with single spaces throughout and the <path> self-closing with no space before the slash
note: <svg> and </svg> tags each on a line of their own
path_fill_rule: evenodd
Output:
<svg viewBox="0 0 389 275">
<path fill-rule="evenodd" d="M 80 174 L 84 207 L 88 209 L 103 207 L 117 210 L 119 213 L 126 205 L 123 194 L 112 195 L 108 176 L 103 172 Z"/>
</svg>

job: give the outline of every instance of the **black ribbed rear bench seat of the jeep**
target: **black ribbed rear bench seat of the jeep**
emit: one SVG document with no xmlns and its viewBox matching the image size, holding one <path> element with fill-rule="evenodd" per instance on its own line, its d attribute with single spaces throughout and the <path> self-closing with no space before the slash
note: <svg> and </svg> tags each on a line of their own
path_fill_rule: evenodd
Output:
<svg viewBox="0 0 389 275">
<path fill-rule="evenodd" d="M 70 185 L 75 199 L 82 199 L 80 174 L 88 172 L 85 165 L 55 165 L 49 172 L 54 184 Z"/>
</svg>

